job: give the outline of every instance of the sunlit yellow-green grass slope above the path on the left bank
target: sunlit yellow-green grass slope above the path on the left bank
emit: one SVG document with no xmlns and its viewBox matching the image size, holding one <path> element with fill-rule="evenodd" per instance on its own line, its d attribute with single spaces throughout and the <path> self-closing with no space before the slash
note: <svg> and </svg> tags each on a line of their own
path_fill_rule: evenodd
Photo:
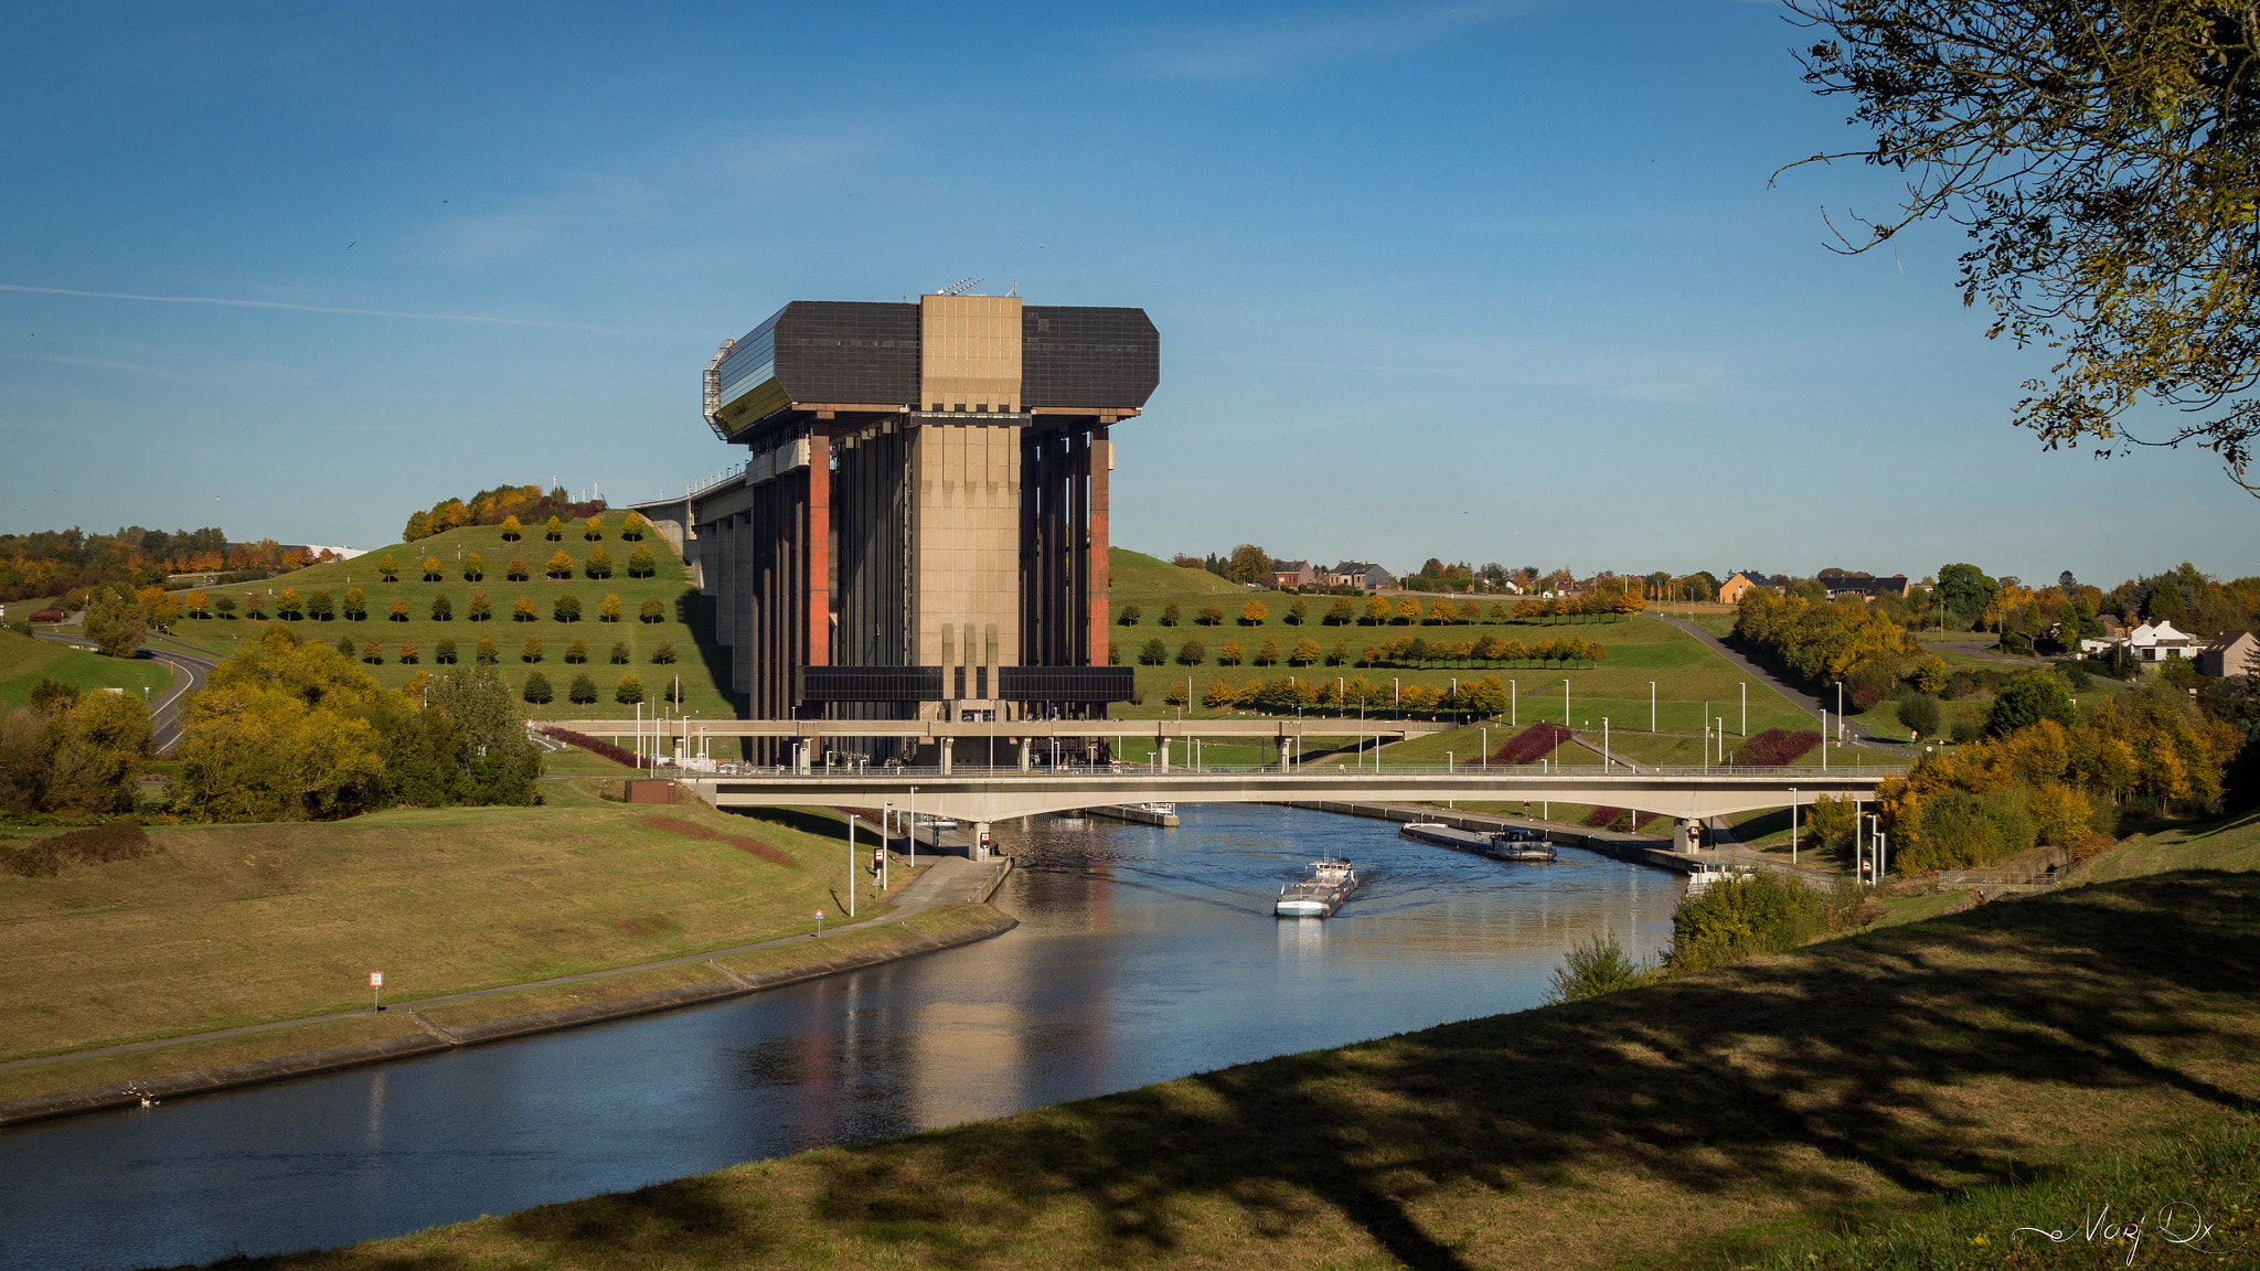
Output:
<svg viewBox="0 0 2260 1271">
<path fill-rule="evenodd" d="M 542 792 L 540 807 L 151 825 L 158 850 L 140 859 L 0 871 L 0 1058 L 366 1006 L 375 968 L 407 1002 L 796 934 L 814 909 L 845 909 L 829 814 Z M 52 832 L 0 828 L 0 846 Z M 0 1097 L 52 1086 L 45 1072 L 0 1079 Z"/>
</svg>

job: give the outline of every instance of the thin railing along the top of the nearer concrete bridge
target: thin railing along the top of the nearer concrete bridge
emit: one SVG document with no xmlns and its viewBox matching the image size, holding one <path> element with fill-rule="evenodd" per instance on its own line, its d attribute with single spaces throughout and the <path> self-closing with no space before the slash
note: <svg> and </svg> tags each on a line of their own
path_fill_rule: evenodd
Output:
<svg viewBox="0 0 2260 1271">
<path fill-rule="evenodd" d="M 1406 776 L 1460 776 L 1460 778 L 1485 778 L 1485 776 L 1548 778 L 1548 776 L 1557 776 L 1557 778 L 1575 778 L 1575 780 L 1596 780 L 1596 778 L 1598 780 L 1641 780 L 1641 778 L 1659 778 L 1659 776 L 1661 778 L 1688 778 L 1688 776 L 1693 776 L 1693 778 L 1767 778 L 1767 780 L 1790 778 L 1790 780 L 1794 780 L 1794 778 L 1801 778 L 1801 776 L 1815 776 L 1815 778 L 1858 778 L 1858 780 L 1869 780 L 1869 778 L 1905 776 L 1907 769 L 1903 764 L 1898 764 L 1898 767 L 1876 767 L 1876 764 L 1842 767 L 1842 764 L 1831 764 L 1828 769 L 1806 767 L 1806 764 L 1799 764 L 1799 767 L 1754 767 L 1754 764 L 1745 764 L 1745 767 L 1729 767 L 1729 764 L 1711 764 L 1711 767 L 1700 767 L 1700 764 L 1695 764 L 1695 767 L 1690 767 L 1690 764 L 1679 764 L 1679 767 L 1648 767 L 1648 764 L 1643 764 L 1638 769 L 1627 767 L 1627 764 L 1607 764 L 1607 767 L 1605 764 L 1553 764 L 1553 767 L 1539 767 L 1539 764 L 1489 764 L 1489 767 L 1485 767 L 1485 764 L 1383 764 L 1381 771 L 1374 771 L 1372 767 L 1356 769 L 1356 767 L 1336 767 L 1336 764 L 1327 762 L 1327 764 L 1302 764 L 1302 767 L 1279 767 L 1279 764 L 1202 764 L 1202 767 L 1186 767 L 1186 764 L 1171 764 L 1166 771 L 1159 769 L 1159 767 L 1146 767 L 1146 764 L 1116 764 L 1116 767 L 1105 767 L 1105 764 L 1101 764 L 1101 767 L 1035 764 L 1035 767 L 1026 767 L 1026 769 L 1015 767 L 1015 764 L 997 764 L 997 767 L 985 767 L 985 764 L 951 764 L 947 773 L 942 769 L 938 769 L 938 767 L 909 767 L 909 764 L 884 764 L 881 767 L 881 764 L 872 764 L 872 767 L 863 767 L 863 769 L 847 769 L 847 767 L 825 769 L 825 767 L 811 767 L 807 773 L 796 773 L 796 771 L 791 771 L 789 764 L 714 764 L 712 769 L 705 769 L 705 767 L 683 767 L 683 769 L 678 769 L 673 764 L 660 764 L 660 767 L 651 769 L 651 773 L 653 776 L 678 776 L 678 778 L 685 778 L 685 780 L 698 780 L 698 778 L 719 778 L 719 780 L 730 780 L 730 778 L 771 778 L 771 780 L 775 780 L 775 778 L 793 778 L 793 780 L 870 780 L 870 778 L 881 778 L 881 780 L 911 780 L 911 778 L 918 778 L 918 780 L 990 780 L 990 778 L 1053 778 L 1053 776 L 1058 776 L 1058 778 L 1121 778 L 1121 780 L 1153 780 L 1153 778 L 1180 778 L 1180 776 L 1324 776 L 1324 778 L 1376 778 L 1376 780 L 1406 778 Z"/>
</svg>

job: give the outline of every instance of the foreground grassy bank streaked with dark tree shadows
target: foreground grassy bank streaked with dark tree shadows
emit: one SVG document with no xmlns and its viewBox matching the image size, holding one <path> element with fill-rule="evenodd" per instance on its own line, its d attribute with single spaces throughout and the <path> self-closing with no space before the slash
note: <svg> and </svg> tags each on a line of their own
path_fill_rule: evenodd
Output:
<svg viewBox="0 0 2260 1271">
<path fill-rule="evenodd" d="M 2246 1108 L 2255 1052 L 2260 875 L 2185 871 L 497 1224 L 572 1266 L 1582 1266 L 2032 1178 Z"/>
</svg>

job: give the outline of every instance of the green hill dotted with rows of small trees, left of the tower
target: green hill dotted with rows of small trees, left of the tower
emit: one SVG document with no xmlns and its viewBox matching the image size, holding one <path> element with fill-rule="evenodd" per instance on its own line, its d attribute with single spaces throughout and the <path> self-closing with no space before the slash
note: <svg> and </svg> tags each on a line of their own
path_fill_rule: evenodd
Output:
<svg viewBox="0 0 2260 1271">
<path fill-rule="evenodd" d="M 649 579 L 631 579 L 628 554 L 635 552 L 637 545 L 621 541 L 619 527 L 624 520 L 626 513 L 606 513 L 603 538 L 597 543 L 583 541 L 579 522 L 565 527 L 565 538 L 560 543 L 545 541 L 538 522 L 529 525 L 524 538 L 518 543 L 506 543 L 502 538 L 502 529 L 495 525 L 470 525 L 416 543 L 377 547 L 375 552 L 355 556 L 353 561 L 307 565 L 305 570 L 282 574 L 267 583 L 210 588 L 208 595 L 217 599 L 221 593 L 228 593 L 242 599 L 251 590 L 258 590 L 262 599 L 267 599 L 267 613 L 273 615 L 273 597 L 278 597 L 282 588 L 296 588 L 301 597 L 310 597 L 314 590 L 328 590 L 330 599 L 339 604 L 339 613 L 328 622 L 292 622 L 292 629 L 298 631 L 301 638 L 323 640 L 330 645 L 341 638 L 350 640 L 355 658 L 362 656 L 364 645 L 380 645 L 380 660 L 366 665 L 368 672 L 386 685 L 407 683 L 416 672 L 443 672 L 445 667 L 436 663 L 441 640 L 454 640 L 457 660 L 461 665 L 470 665 L 472 654 L 484 638 L 495 642 L 499 651 L 497 665 L 513 688 L 522 688 L 529 674 L 540 672 L 556 690 L 556 699 L 549 706 L 527 708 L 536 719 L 631 717 L 635 715 L 635 708 L 612 699 L 612 690 L 626 674 L 633 674 L 644 685 L 644 715 L 651 715 L 653 706 L 660 703 L 664 685 L 673 676 L 683 676 L 685 712 L 707 719 L 734 717 L 734 697 L 728 692 L 728 649 L 705 640 L 705 633 L 712 631 L 712 622 L 705 617 L 705 602 L 689 583 L 689 572 L 667 547 L 664 538 L 646 534 L 642 545 L 651 547 L 651 554 L 658 559 L 658 572 Z M 585 563 L 594 547 L 603 547 L 612 556 L 612 577 L 588 577 Z M 574 561 L 572 579 L 549 579 L 542 574 L 549 554 L 558 550 L 565 550 L 565 554 Z M 400 581 L 386 583 L 377 577 L 377 561 L 386 552 L 400 563 Z M 479 581 L 463 577 L 466 559 L 472 552 L 479 554 L 484 565 L 484 577 Z M 438 559 L 441 581 L 423 581 L 420 563 L 425 556 Z M 531 568 L 531 577 L 527 581 L 511 581 L 504 577 L 513 556 L 524 559 Z M 346 588 L 362 588 L 368 593 L 368 617 L 350 620 L 344 615 Z M 493 602 L 493 620 L 488 622 L 470 620 L 470 597 L 479 590 L 484 590 Z M 579 622 L 556 620 L 556 599 L 565 595 L 581 602 Z M 619 622 L 601 622 L 597 615 L 597 606 L 608 595 L 619 597 Z M 434 597 L 447 597 L 454 606 L 452 620 L 441 622 L 432 617 Z M 520 597 L 533 602 L 533 622 L 513 620 L 511 604 Z M 642 622 L 637 617 L 646 597 L 660 599 L 662 617 L 658 622 Z M 407 604 L 407 622 L 389 620 L 386 611 L 395 599 Z M 260 631 L 264 631 L 264 626 L 260 622 L 242 620 L 242 611 L 237 611 L 237 620 L 233 622 L 221 617 L 192 622 L 183 617 L 174 624 L 174 636 L 203 645 L 217 654 L 233 654 L 242 640 L 258 640 Z M 527 660 L 522 651 L 529 636 L 542 642 L 538 663 Z M 585 665 L 565 660 L 574 638 L 588 645 Z M 400 660 L 402 645 L 411 642 L 418 654 L 414 665 Z M 624 665 L 612 663 L 615 645 L 626 649 Z M 673 645 L 673 665 L 651 660 L 660 645 Z M 576 706 L 565 699 L 565 688 L 576 674 L 583 672 L 597 681 L 599 690 L 597 701 L 590 706 Z"/>
</svg>

